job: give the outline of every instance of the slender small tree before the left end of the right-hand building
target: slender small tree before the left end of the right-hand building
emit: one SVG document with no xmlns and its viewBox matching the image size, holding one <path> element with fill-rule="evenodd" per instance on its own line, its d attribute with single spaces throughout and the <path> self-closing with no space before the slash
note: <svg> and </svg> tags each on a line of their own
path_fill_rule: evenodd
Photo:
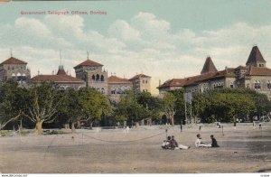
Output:
<svg viewBox="0 0 271 177">
<path fill-rule="evenodd" d="M 171 92 L 164 94 L 164 113 L 171 120 L 172 126 L 174 126 L 174 115 L 176 112 L 176 100 L 177 98 Z"/>
</svg>

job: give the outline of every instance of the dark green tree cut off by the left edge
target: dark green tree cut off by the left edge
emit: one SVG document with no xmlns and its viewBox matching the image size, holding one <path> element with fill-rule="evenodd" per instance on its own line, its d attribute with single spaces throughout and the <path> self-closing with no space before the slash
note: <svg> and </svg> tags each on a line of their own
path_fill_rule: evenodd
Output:
<svg viewBox="0 0 271 177">
<path fill-rule="evenodd" d="M 27 89 L 13 80 L 0 85 L 0 130 L 8 123 L 23 117 L 27 107 Z M 21 125 L 22 126 L 22 125 Z"/>
</svg>

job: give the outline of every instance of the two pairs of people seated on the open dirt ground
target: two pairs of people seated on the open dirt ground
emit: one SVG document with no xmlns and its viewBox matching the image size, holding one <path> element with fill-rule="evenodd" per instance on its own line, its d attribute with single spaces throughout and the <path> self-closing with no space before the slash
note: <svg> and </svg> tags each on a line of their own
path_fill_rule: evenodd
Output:
<svg viewBox="0 0 271 177">
<path fill-rule="evenodd" d="M 211 139 L 211 144 L 205 144 L 201 141 L 201 135 L 198 134 L 197 135 L 197 139 L 195 141 L 195 146 L 196 147 L 220 147 L 220 145 L 218 144 L 217 140 L 214 138 L 213 135 L 210 135 L 210 139 Z M 187 145 L 182 145 L 182 144 L 178 144 L 176 142 L 176 140 L 174 139 L 174 136 L 167 136 L 167 140 L 164 140 L 163 144 L 162 144 L 162 148 L 163 149 L 189 149 L 190 146 Z"/>
</svg>

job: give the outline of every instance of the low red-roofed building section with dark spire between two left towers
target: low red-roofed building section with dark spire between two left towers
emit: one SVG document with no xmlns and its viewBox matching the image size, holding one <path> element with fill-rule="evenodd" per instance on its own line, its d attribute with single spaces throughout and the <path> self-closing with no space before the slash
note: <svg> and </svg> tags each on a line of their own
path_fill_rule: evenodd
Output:
<svg viewBox="0 0 271 177">
<path fill-rule="evenodd" d="M 33 83 L 42 83 L 42 82 L 47 82 L 47 83 L 54 83 L 57 84 L 60 89 L 80 89 L 83 87 L 86 87 L 86 82 L 82 79 L 77 79 L 72 76 L 67 75 L 65 72 L 63 66 L 59 67 L 59 70 L 57 74 L 51 74 L 51 75 L 37 75 L 33 77 L 32 79 Z"/>
</svg>

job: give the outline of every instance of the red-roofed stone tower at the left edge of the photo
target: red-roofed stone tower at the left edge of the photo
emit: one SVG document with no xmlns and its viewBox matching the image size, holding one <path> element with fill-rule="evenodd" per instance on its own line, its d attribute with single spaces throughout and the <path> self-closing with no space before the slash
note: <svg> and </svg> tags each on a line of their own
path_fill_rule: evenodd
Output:
<svg viewBox="0 0 271 177">
<path fill-rule="evenodd" d="M 0 81 L 14 79 L 19 82 L 26 82 L 31 78 L 30 70 L 27 68 L 27 62 L 14 57 L 0 63 Z"/>
</svg>

